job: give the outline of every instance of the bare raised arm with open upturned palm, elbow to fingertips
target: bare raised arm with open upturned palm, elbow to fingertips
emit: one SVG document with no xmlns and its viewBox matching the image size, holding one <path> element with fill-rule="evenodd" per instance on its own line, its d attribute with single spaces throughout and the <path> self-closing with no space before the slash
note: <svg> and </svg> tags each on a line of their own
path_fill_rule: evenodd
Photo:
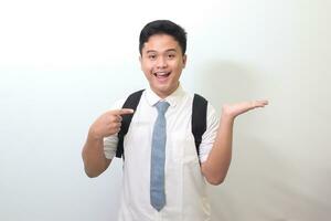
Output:
<svg viewBox="0 0 331 221">
<path fill-rule="evenodd" d="M 235 118 L 256 107 L 264 107 L 267 101 L 244 102 L 234 105 L 224 105 L 221 123 L 213 148 L 206 161 L 201 165 L 201 170 L 211 185 L 221 185 L 227 173 L 232 158 L 233 125 Z"/>
</svg>

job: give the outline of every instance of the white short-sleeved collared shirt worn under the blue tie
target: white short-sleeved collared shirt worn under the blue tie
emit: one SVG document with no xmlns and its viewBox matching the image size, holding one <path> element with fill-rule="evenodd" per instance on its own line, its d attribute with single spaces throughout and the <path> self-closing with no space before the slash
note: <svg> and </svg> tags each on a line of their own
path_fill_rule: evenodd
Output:
<svg viewBox="0 0 331 221">
<path fill-rule="evenodd" d="M 194 136 L 191 130 L 193 95 L 181 86 L 166 98 L 170 104 L 166 113 L 166 206 L 158 212 L 150 204 L 150 157 L 153 124 L 158 110 L 153 106 L 161 98 L 150 88 L 142 93 L 124 139 L 124 186 L 119 221 L 207 221 L 210 204 L 206 181 L 201 172 Z M 124 101 L 114 108 L 121 108 Z M 216 137 L 218 118 L 207 106 L 207 128 L 200 145 L 200 160 L 205 161 Z M 117 135 L 105 138 L 108 159 L 114 158 Z"/>
</svg>

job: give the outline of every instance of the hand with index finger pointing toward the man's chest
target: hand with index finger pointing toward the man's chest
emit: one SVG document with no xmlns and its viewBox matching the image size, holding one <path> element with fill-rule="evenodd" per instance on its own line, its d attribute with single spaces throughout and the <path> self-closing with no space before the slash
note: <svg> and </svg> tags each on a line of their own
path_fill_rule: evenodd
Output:
<svg viewBox="0 0 331 221">
<path fill-rule="evenodd" d="M 121 115 L 134 114 L 134 109 L 114 109 L 99 116 L 89 128 L 89 136 L 95 139 L 102 139 L 119 131 L 121 125 Z"/>
</svg>

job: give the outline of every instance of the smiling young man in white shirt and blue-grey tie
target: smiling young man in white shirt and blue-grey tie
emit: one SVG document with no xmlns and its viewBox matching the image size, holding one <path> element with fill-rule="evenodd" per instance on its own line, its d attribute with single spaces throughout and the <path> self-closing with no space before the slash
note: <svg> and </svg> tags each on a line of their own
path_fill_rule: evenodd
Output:
<svg viewBox="0 0 331 221">
<path fill-rule="evenodd" d="M 140 33 L 139 50 L 150 87 L 143 91 L 124 139 L 118 220 L 210 220 L 205 185 L 220 185 L 225 179 L 234 120 L 247 110 L 264 107 L 267 101 L 224 105 L 220 123 L 214 107 L 207 104 L 206 130 L 197 155 L 191 129 L 193 95 L 179 81 L 186 64 L 185 31 L 167 20 L 150 22 Z M 104 172 L 116 154 L 122 116 L 134 113 L 121 108 L 122 104 L 118 102 L 89 128 L 83 148 L 88 177 Z"/>
</svg>

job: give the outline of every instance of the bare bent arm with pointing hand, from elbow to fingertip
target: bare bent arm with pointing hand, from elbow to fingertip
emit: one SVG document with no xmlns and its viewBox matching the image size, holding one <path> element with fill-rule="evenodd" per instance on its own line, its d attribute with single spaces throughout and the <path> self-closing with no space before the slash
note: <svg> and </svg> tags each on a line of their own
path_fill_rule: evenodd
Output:
<svg viewBox="0 0 331 221">
<path fill-rule="evenodd" d="M 97 177 L 108 168 L 111 159 L 105 156 L 104 138 L 119 131 L 120 115 L 132 113 L 132 109 L 110 110 L 98 117 L 90 126 L 82 151 L 85 172 L 88 177 Z"/>
</svg>

